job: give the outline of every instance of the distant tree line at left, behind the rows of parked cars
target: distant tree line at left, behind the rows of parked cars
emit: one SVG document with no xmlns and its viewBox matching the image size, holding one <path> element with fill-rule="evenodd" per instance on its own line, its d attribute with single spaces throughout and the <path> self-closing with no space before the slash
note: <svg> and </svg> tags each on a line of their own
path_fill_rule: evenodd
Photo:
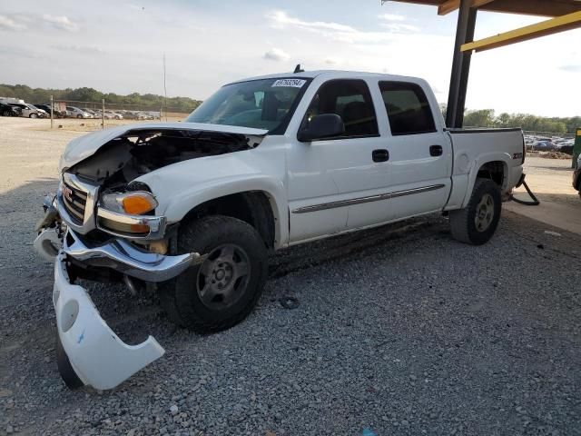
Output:
<svg viewBox="0 0 581 436">
<path fill-rule="evenodd" d="M 102 93 L 94 88 L 67 88 L 67 89 L 44 89 L 31 88 L 25 84 L 0 84 L 0 97 L 21 98 L 26 103 L 47 104 L 51 95 L 54 101 L 74 101 L 74 102 L 94 102 L 101 103 L 104 98 L 107 105 L 129 105 L 135 104 L 140 110 L 157 110 L 166 107 L 173 112 L 189 114 L 202 102 L 189 97 L 168 97 L 166 104 L 163 103 L 163 96 L 156 94 L 133 93 L 119 95 L 114 93 Z M 130 109 L 130 107 L 127 107 Z"/>
</svg>

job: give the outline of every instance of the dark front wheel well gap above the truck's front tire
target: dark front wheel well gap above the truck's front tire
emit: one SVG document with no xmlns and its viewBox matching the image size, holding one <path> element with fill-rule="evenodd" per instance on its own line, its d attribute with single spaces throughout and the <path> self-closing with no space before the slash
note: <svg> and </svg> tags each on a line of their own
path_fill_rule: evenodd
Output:
<svg viewBox="0 0 581 436">
<path fill-rule="evenodd" d="M 267 248 L 274 247 L 274 214 L 266 193 L 251 191 L 232 193 L 198 204 L 182 221 L 195 220 L 208 215 L 225 215 L 251 224 L 261 235 Z"/>
</svg>

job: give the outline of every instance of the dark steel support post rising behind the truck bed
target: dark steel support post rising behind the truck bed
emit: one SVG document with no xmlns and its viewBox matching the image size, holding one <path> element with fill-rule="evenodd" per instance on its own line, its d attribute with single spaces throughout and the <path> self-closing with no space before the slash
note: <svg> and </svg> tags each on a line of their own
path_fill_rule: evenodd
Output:
<svg viewBox="0 0 581 436">
<path fill-rule="evenodd" d="M 460 0 L 446 112 L 446 125 L 449 128 L 459 128 L 464 123 L 464 104 L 466 103 L 472 52 L 462 52 L 461 47 L 474 39 L 477 15 L 477 9 L 470 7 L 470 5 L 470 0 Z"/>
</svg>

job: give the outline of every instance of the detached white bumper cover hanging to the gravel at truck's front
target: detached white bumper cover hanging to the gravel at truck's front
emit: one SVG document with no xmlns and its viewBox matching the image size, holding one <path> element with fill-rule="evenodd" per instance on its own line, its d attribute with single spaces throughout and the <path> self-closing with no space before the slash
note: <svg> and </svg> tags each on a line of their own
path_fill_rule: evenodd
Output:
<svg viewBox="0 0 581 436">
<path fill-rule="evenodd" d="M 83 287 L 71 284 L 59 253 L 54 264 L 53 302 L 58 335 L 78 378 L 95 389 L 111 389 L 162 357 L 162 346 L 150 336 L 127 345 L 99 315 Z"/>
</svg>

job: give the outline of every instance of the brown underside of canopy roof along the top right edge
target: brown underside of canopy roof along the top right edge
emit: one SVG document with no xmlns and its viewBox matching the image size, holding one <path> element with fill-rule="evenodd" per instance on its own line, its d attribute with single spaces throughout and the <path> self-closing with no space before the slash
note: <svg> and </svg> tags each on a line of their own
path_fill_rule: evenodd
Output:
<svg viewBox="0 0 581 436">
<path fill-rule="evenodd" d="M 458 9 L 460 0 L 391 0 L 401 3 L 438 6 L 438 14 L 446 15 Z M 480 11 L 510 14 L 560 16 L 581 11 L 581 0 L 472 0 Z"/>
</svg>

